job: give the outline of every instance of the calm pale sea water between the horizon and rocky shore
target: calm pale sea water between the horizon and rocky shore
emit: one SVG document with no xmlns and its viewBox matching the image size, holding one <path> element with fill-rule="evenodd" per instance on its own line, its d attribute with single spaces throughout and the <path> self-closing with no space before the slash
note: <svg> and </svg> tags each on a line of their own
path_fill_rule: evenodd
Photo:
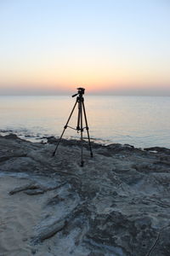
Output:
<svg viewBox="0 0 170 256">
<path fill-rule="evenodd" d="M 0 131 L 34 140 L 58 137 L 75 101 L 71 96 L 0 96 Z M 85 96 L 85 107 L 90 137 L 97 142 L 170 148 L 170 97 Z M 76 128 L 77 109 L 69 125 Z M 67 128 L 65 137 L 79 134 Z"/>
</svg>

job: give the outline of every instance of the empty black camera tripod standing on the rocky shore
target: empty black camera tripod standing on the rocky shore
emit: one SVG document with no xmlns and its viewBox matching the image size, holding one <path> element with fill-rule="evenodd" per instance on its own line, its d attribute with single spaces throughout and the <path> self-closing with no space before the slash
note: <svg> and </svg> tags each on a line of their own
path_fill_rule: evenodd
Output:
<svg viewBox="0 0 170 256">
<path fill-rule="evenodd" d="M 81 166 L 83 166 L 83 156 L 82 156 L 82 132 L 84 129 L 87 130 L 87 133 L 88 133 L 88 144 L 89 144 L 89 149 L 90 149 L 90 155 L 91 157 L 93 157 L 93 152 L 92 152 L 92 147 L 91 147 L 91 143 L 90 143 L 90 137 L 89 137 L 89 131 L 88 131 L 88 120 L 87 120 L 87 116 L 86 116 L 86 111 L 85 111 L 85 107 L 84 107 L 84 98 L 83 98 L 83 94 L 84 94 L 84 88 L 77 88 L 78 92 L 77 94 L 74 94 L 72 97 L 75 97 L 77 96 L 77 101 L 74 105 L 74 107 L 72 108 L 72 111 L 71 111 L 71 114 L 69 116 L 69 119 L 67 120 L 66 122 L 66 125 L 64 126 L 64 130 L 63 132 L 61 133 L 61 136 L 59 137 L 59 141 L 56 145 L 56 148 L 54 150 L 54 153 L 53 153 L 53 156 L 55 154 L 55 152 L 57 151 L 57 148 L 59 147 L 59 143 L 60 143 L 60 140 L 61 138 L 63 137 L 64 133 L 65 133 L 65 129 L 67 127 L 73 129 L 73 130 L 76 130 L 77 132 L 78 131 L 81 131 Z M 78 103 L 78 118 L 77 118 L 77 129 L 75 128 L 72 128 L 71 126 L 68 125 L 70 119 L 71 119 L 71 115 L 72 113 L 74 112 L 74 109 L 76 108 L 77 106 L 77 103 Z M 82 127 L 82 114 L 84 114 L 84 119 L 85 119 L 85 123 L 86 123 L 86 126 L 85 127 Z"/>
</svg>

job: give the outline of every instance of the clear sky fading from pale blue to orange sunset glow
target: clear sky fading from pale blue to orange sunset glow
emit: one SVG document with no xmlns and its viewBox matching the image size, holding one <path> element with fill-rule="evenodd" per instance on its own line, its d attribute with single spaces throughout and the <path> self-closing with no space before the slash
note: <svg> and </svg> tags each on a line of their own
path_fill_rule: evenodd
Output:
<svg viewBox="0 0 170 256">
<path fill-rule="evenodd" d="M 0 95 L 170 96 L 169 0 L 0 0 Z"/>
</svg>

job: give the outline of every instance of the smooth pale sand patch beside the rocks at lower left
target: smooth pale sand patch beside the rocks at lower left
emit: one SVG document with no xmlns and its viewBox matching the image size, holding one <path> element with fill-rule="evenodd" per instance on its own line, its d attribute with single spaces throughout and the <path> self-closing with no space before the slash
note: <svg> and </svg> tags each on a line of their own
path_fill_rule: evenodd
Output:
<svg viewBox="0 0 170 256">
<path fill-rule="evenodd" d="M 1 255 L 31 255 L 27 240 L 40 217 L 42 202 L 38 198 L 21 194 L 9 195 L 8 192 L 26 184 L 26 179 L 17 177 L 0 178 L 0 252 Z"/>
</svg>

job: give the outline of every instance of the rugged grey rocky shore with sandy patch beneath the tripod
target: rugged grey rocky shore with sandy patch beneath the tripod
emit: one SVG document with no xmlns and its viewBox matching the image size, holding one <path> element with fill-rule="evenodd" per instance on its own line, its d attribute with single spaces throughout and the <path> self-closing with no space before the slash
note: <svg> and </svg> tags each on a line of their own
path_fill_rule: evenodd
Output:
<svg viewBox="0 0 170 256">
<path fill-rule="evenodd" d="M 0 137 L 1 256 L 169 256 L 170 149 Z"/>
</svg>

